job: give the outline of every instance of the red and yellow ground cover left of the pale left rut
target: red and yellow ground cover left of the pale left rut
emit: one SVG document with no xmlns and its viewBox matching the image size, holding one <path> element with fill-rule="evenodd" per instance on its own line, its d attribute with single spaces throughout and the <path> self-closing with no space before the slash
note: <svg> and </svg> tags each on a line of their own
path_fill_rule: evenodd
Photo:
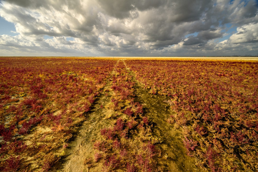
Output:
<svg viewBox="0 0 258 172">
<path fill-rule="evenodd" d="M 116 60 L 0 58 L 0 171 L 47 171 Z"/>
</svg>

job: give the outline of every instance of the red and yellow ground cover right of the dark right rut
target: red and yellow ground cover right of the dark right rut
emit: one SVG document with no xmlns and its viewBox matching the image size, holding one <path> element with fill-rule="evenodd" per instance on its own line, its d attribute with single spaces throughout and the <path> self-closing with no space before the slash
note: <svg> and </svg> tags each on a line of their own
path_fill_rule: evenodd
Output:
<svg viewBox="0 0 258 172">
<path fill-rule="evenodd" d="M 258 170 L 258 62 L 127 60 L 145 89 L 169 96 L 187 154 L 212 171 Z"/>
</svg>

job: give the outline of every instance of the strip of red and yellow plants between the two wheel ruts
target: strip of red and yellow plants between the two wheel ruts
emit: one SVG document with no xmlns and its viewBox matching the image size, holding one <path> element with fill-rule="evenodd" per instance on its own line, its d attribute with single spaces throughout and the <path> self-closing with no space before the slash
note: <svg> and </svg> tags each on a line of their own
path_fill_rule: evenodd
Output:
<svg viewBox="0 0 258 172">
<path fill-rule="evenodd" d="M 112 127 L 100 129 L 104 140 L 94 143 L 94 160 L 102 161 L 102 171 L 121 169 L 123 171 L 161 171 L 154 157 L 160 156 L 148 117 L 143 115 L 143 105 L 134 102 L 133 76 L 119 61 L 112 76 L 110 109 L 121 112 L 116 114 Z"/>
</svg>

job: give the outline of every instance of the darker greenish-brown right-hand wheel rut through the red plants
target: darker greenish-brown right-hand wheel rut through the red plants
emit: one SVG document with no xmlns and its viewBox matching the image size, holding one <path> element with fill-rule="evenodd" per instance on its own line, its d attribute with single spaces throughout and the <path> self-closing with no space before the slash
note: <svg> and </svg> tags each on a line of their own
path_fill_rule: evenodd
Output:
<svg viewBox="0 0 258 172">
<path fill-rule="evenodd" d="M 126 63 L 125 63 L 125 66 Z M 127 68 L 130 71 L 130 68 Z M 130 71 L 134 76 L 134 73 Z M 167 159 L 159 159 L 159 163 L 168 171 L 200 171 L 195 166 L 195 158 L 186 155 L 186 148 L 182 143 L 183 135 L 180 130 L 174 129 L 166 122 L 169 115 L 173 114 L 169 105 L 164 101 L 166 96 L 153 95 L 148 90 L 143 89 L 141 83 L 133 77 L 135 85 L 135 101 L 144 104 L 144 114 L 153 122 L 153 134 L 161 138 L 163 142 L 158 144 L 163 154 L 167 154 Z"/>
</svg>

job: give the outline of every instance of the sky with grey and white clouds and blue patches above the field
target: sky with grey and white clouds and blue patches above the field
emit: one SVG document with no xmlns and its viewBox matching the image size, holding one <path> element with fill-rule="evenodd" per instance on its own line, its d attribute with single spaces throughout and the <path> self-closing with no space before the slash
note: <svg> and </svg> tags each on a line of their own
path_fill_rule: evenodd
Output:
<svg viewBox="0 0 258 172">
<path fill-rule="evenodd" d="M 0 56 L 258 55 L 258 0 L 0 0 Z"/>
</svg>

